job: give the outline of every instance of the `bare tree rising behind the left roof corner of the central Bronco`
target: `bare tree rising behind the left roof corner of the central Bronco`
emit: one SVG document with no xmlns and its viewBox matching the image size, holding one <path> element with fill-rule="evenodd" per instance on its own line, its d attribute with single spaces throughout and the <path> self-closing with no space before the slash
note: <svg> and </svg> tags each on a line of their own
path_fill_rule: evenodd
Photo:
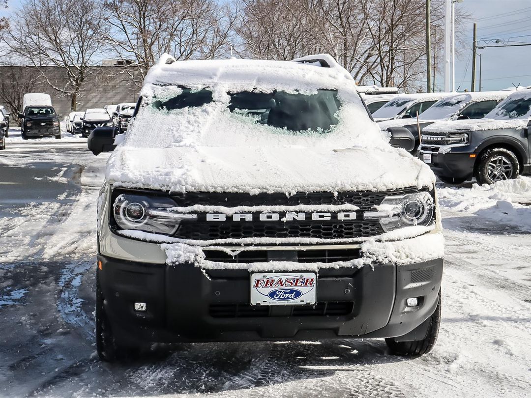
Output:
<svg viewBox="0 0 531 398">
<path fill-rule="evenodd" d="M 104 35 L 114 54 L 140 86 L 163 53 L 177 59 L 226 55 L 234 16 L 213 0 L 106 0 Z"/>
</svg>

